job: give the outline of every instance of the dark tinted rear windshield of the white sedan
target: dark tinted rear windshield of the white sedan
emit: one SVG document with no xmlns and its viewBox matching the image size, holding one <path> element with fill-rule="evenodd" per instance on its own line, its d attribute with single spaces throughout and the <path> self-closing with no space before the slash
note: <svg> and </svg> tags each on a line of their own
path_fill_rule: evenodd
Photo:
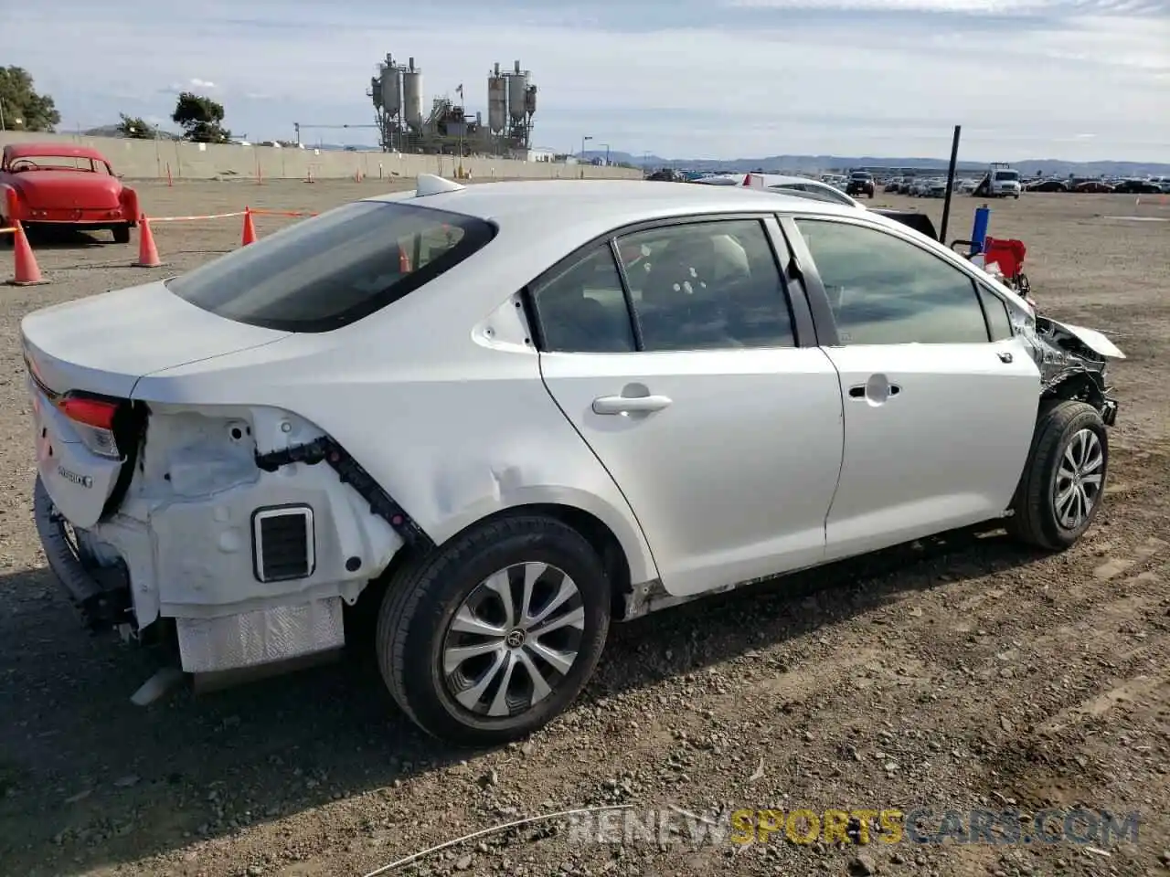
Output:
<svg viewBox="0 0 1170 877">
<path fill-rule="evenodd" d="M 428 283 L 494 236 L 495 227 L 474 216 L 357 201 L 174 277 L 167 289 L 236 323 L 328 332 Z"/>
</svg>

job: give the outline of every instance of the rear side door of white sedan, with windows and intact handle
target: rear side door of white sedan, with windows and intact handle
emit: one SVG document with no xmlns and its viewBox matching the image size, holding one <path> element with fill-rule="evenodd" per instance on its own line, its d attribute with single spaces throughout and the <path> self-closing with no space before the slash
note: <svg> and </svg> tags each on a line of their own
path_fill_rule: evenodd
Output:
<svg viewBox="0 0 1170 877">
<path fill-rule="evenodd" d="M 651 225 L 531 288 L 545 385 L 675 595 L 824 555 L 841 395 L 776 247 L 771 217 Z"/>
</svg>

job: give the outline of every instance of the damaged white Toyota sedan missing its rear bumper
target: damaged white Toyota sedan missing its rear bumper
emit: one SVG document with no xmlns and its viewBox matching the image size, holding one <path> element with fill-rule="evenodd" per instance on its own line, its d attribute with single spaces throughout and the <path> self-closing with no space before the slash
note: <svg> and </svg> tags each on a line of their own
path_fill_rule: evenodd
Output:
<svg viewBox="0 0 1170 877">
<path fill-rule="evenodd" d="M 888 217 L 640 181 L 420 178 L 21 329 L 90 624 L 214 677 L 369 612 L 463 744 L 565 709 L 611 621 L 980 522 L 1073 544 L 1122 357 Z"/>
</svg>

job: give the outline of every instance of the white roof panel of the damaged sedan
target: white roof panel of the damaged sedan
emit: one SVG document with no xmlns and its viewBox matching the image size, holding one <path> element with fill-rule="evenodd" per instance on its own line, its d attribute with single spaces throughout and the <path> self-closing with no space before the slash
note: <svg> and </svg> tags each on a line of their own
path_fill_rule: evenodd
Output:
<svg viewBox="0 0 1170 877">
<path fill-rule="evenodd" d="M 695 186 L 649 180 L 524 180 L 487 182 L 407 196 L 410 203 L 450 210 L 501 225 L 555 223 L 593 234 L 634 222 L 704 213 L 756 213 L 793 209 L 801 213 L 852 216 L 845 205 L 810 201 L 748 186 Z M 402 193 L 374 195 L 367 201 L 404 201 Z M 763 200 L 760 200 L 763 199 Z"/>
</svg>

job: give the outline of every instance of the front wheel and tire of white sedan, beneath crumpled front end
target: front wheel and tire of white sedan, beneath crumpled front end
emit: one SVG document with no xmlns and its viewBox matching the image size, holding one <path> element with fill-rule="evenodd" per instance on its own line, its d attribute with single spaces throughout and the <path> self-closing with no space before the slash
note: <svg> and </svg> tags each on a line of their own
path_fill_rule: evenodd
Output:
<svg viewBox="0 0 1170 877">
<path fill-rule="evenodd" d="M 1096 408 L 1061 400 L 1040 408 L 1007 532 L 1048 551 L 1072 546 L 1104 498 L 1109 435 Z"/>
</svg>

